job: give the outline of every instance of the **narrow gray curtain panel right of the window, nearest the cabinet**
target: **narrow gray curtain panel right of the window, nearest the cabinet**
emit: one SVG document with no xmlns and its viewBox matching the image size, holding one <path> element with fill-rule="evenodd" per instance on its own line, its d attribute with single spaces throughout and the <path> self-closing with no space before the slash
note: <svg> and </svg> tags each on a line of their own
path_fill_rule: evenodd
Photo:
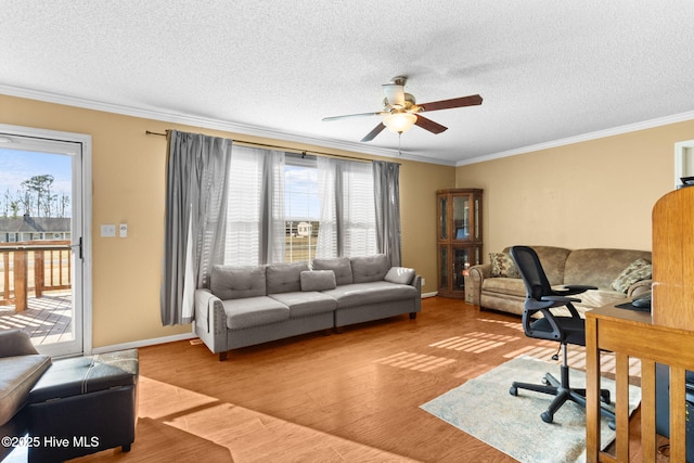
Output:
<svg viewBox="0 0 694 463">
<path fill-rule="evenodd" d="M 400 266 L 400 165 L 373 162 L 373 192 L 376 205 L 376 242 L 378 253 Z"/>
</svg>

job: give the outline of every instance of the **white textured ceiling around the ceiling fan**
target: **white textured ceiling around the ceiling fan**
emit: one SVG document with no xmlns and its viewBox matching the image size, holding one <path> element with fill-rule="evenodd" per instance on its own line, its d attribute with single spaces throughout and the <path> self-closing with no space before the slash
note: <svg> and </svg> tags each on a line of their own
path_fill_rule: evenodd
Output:
<svg viewBox="0 0 694 463">
<path fill-rule="evenodd" d="M 402 134 L 442 164 L 694 118 L 690 0 L 2 0 L 0 24 L 0 93 L 365 153 L 397 156 L 359 142 L 378 116 L 321 118 L 398 75 L 420 103 L 479 93 Z"/>
</svg>

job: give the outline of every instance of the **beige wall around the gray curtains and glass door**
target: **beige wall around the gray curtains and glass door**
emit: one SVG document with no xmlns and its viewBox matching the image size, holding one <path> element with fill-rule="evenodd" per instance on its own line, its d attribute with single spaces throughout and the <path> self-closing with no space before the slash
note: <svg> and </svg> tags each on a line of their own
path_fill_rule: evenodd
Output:
<svg viewBox="0 0 694 463">
<path fill-rule="evenodd" d="M 163 327 L 159 319 L 166 140 L 146 136 L 145 130 L 180 129 L 236 140 L 273 141 L 7 95 L 0 95 L 0 124 L 91 136 L 92 346 L 190 333 L 190 326 Z M 455 168 L 402 160 L 400 169 L 403 265 L 426 279 L 424 292 L 435 292 L 435 192 L 454 187 Z M 124 222 L 128 223 L 127 239 L 99 236 L 101 224 Z"/>
</svg>

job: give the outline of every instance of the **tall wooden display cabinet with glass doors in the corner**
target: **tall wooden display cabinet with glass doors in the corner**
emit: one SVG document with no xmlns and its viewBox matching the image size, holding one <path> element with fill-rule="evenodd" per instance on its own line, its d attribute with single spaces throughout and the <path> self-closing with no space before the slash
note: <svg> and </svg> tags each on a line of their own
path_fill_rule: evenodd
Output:
<svg viewBox="0 0 694 463">
<path fill-rule="evenodd" d="M 467 269 L 481 263 L 481 193 L 479 189 L 436 192 L 439 296 L 465 298 Z"/>
</svg>

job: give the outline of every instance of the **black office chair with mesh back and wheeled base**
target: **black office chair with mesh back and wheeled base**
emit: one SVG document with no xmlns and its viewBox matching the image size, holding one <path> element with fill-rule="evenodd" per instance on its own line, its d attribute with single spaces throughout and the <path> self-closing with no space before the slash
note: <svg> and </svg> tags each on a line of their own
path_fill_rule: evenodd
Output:
<svg viewBox="0 0 694 463">
<path fill-rule="evenodd" d="M 588 290 L 596 290 L 596 287 L 566 285 L 564 290 L 552 290 L 540 263 L 540 258 L 535 249 L 528 246 L 513 246 L 511 247 L 511 257 L 518 268 L 526 288 L 525 307 L 523 310 L 523 331 L 528 337 L 561 343 L 563 360 L 561 381 L 557 381 L 552 374 L 547 373 L 544 375 L 544 384 L 514 382 L 509 393 L 512 396 L 517 396 L 518 389 L 527 389 L 555 396 L 547 411 L 540 414 L 543 422 L 552 423 L 552 421 L 554 421 L 554 413 L 567 400 L 576 402 L 583 408 L 586 407 L 586 389 L 573 389 L 568 378 L 567 344 L 586 345 L 586 321 L 580 318 L 578 311 L 571 304 L 580 303 L 580 299 L 570 296 Z M 554 307 L 566 307 L 570 312 L 570 317 L 553 314 L 550 309 Z M 542 313 L 543 318 L 535 318 L 534 316 L 538 312 Z M 553 359 L 557 360 L 558 357 L 554 356 Z M 601 390 L 601 400 L 609 403 L 608 390 Z M 605 409 L 602 409 L 602 413 L 611 419 L 611 427 L 613 427 L 615 420 L 614 413 Z"/>
</svg>

